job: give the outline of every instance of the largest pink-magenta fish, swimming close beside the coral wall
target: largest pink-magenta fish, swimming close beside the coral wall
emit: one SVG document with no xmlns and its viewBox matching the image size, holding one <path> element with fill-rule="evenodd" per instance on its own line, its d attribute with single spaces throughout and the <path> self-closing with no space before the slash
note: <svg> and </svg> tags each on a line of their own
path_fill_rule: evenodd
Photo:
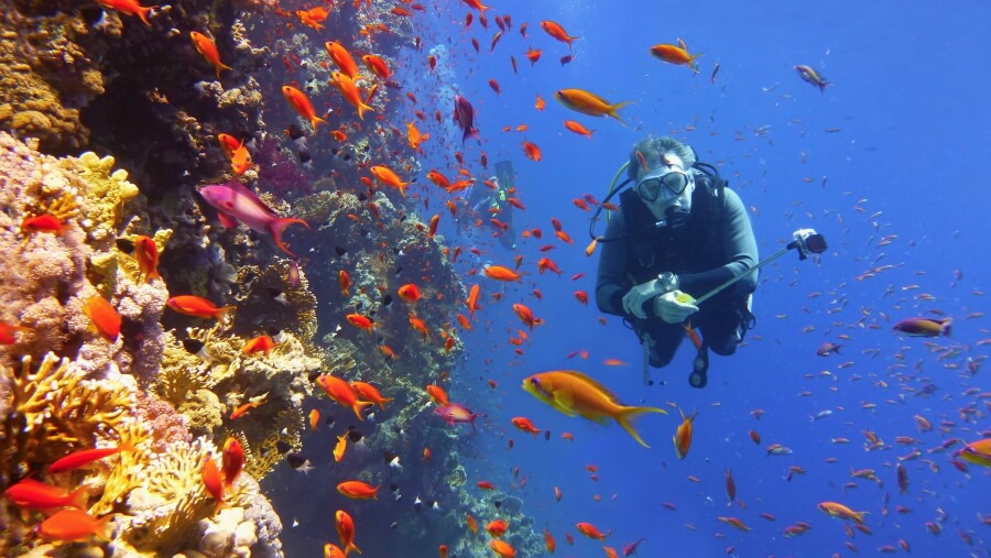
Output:
<svg viewBox="0 0 991 558">
<path fill-rule="evenodd" d="M 238 226 L 238 221 L 257 232 L 268 232 L 275 240 L 280 250 L 297 258 L 282 241 L 282 232 L 294 222 L 309 228 L 303 219 L 279 217 L 264 201 L 238 180 L 227 184 L 215 184 L 199 188 L 199 195 L 217 209 L 220 222 L 228 229 Z"/>
</svg>

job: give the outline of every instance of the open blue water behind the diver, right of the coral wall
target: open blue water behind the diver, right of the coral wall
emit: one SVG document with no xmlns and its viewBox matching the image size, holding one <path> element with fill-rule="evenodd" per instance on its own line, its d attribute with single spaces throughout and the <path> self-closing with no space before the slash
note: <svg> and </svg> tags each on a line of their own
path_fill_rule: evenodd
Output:
<svg viewBox="0 0 991 558">
<path fill-rule="evenodd" d="M 991 111 L 984 97 L 991 84 L 991 35 L 985 30 L 991 7 L 734 4 L 504 2 L 488 12 L 488 31 L 477 21 L 464 29 L 469 9 L 461 2 L 444 2 L 431 8 L 431 17 L 414 18 L 425 48 L 407 53 L 411 62 L 396 79 L 415 84 L 410 87 L 423 103 L 417 108 L 428 114 L 436 108 L 445 116 L 443 125 L 417 121 L 433 136 L 424 143 L 424 171 L 436 167 L 451 176 L 457 168 L 453 150 L 465 153 L 479 178 L 492 173 L 494 162 L 512 161 L 518 197 L 526 206 L 514 212 L 516 229 L 544 231 L 543 239 L 518 239 L 518 250 L 505 251 L 488 231 L 459 239 L 444 210 L 440 233 L 450 245 L 464 245 L 459 269 L 465 283 L 480 283 L 483 293 L 481 321 L 464 336 L 468 350 L 450 390 L 453 400 L 486 413 L 478 433 L 461 427 L 465 446 L 471 448 L 466 453 L 477 456 L 467 458 L 469 484 L 490 480 L 522 497 L 524 512 L 537 530 L 546 526 L 554 534 L 562 556 L 603 556 L 600 544 L 578 535 L 576 522 L 612 529 L 607 544 L 617 550 L 647 537 L 640 556 L 850 556 L 854 548 L 872 556 L 886 546 L 904 552 L 897 548 L 900 539 L 916 556 L 988 556 L 989 527 L 979 517 L 991 514 L 988 471 L 977 466 L 966 474 L 958 471 L 950 458 L 959 446 L 929 450 L 950 438 L 978 439 L 991 428 L 991 400 L 963 393 L 987 393 L 991 386 L 982 362 L 988 347 L 977 344 L 991 337 L 987 318 L 965 319 L 988 311 L 982 291 L 989 285 L 983 260 Z M 494 13 L 510 13 L 513 29 L 490 53 L 498 31 Z M 540 29 L 544 19 L 581 37 L 570 64 L 558 63 L 568 48 Z M 523 22 L 530 26 L 525 40 L 518 32 Z M 471 37 L 478 39 L 481 53 L 475 53 Z M 677 37 L 690 52 L 705 53 L 699 74 L 650 55 L 651 45 Z M 422 75 L 426 51 L 437 43 L 447 45 L 444 87 Z M 524 56 L 530 46 L 543 50 L 533 67 Z M 518 75 L 510 55 L 518 61 Z M 715 63 L 720 69 L 714 85 Z M 799 79 L 796 64 L 815 67 L 832 85 L 820 92 Z M 489 79 L 500 84 L 501 95 L 490 89 Z M 555 90 L 570 87 L 612 102 L 634 101 L 621 109 L 627 125 L 554 101 Z M 460 132 L 447 120 L 451 91 L 473 103 L 480 145 L 469 140 L 461 149 Z M 547 102 L 544 111 L 534 109 L 537 95 Z M 400 108 L 386 118 L 402 128 L 414 118 L 413 110 Z M 595 130 L 593 139 L 565 130 L 566 119 Z M 519 124 L 529 130 L 502 131 Z M 687 342 L 671 365 L 652 371 L 657 385 L 641 383 L 635 337 L 613 316 L 605 325 L 598 319 L 598 254 L 584 253 L 590 212 L 571 204 L 584 194 L 602 199 L 631 145 L 651 133 L 683 139 L 701 161 L 719 165 L 751 209 L 762 256 L 799 228 L 815 228 L 829 242 L 818 258 L 799 262 L 787 253 L 762 272 L 753 308 L 758 327 L 734 357 L 712 357 L 705 390 L 687 384 L 693 357 Z M 541 147 L 541 162 L 524 156 L 524 140 Z M 489 171 L 478 163 L 482 151 Z M 424 212 L 428 218 L 449 196 L 424 176 L 418 184 L 414 192 L 432 198 Z M 553 239 L 552 217 L 560 219 L 574 245 Z M 599 232 L 603 230 L 605 223 Z M 890 243 L 879 245 L 886 237 Z M 481 258 L 467 253 L 476 245 L 471 242 L 480 243 Z M 540 252 L 545 244 L 555 249 Z M 522 270 L 529 273 L 521 284 L 468 274 L 486 261 L 512 266 L 516 254 L 523 255 Z M 537 274 L 535 262 L 543 255 L 560 266 L 560 277 Z M 862 276 L 882 265 L 893 267 Z M 955 272 L 961 278 L 955 280 Z M 585 276 L 570 280 L 579 273 Z M 592 298 L 589 306 L 575 300 L 577 289 Z M 491 294 L 498 291 L 504 296 L 496 303 Z M 513 303 L 526 304 L 546 322 L 530 335 L 522 355 L 509 343 L 518 329 L 525 329 L 510 310 Z M 902 338 L 891 330 L 900 319 L 935 317 L 935 311 L 955 318 L 951 337 Z M 850 339 L 840 340 L 841 335 Z M 841 354 L 817 357 L 816 348 L 825 341 L 842 344 Z M 579 350 L 588 351 L 587 360 L 566 358 Z M 946 358 L 939 351 L 956 354 Z M 607 366 L 605 359 L 629 365 Z M 968 359 L 978 362 L 976 374 L 968 372 Z M 652 448 L 636 445 L 616 426 L 566 417 L 519 387 L 530 374 L 559 369 L 597 378 L 628 404 L 666 408 L 667 416 L 646 415 L 639 422 Z M 494 391 L 489 379 L 498 385 Z M 919 394 L 924 390 L 932 393 Z M 969 412 L 961 414 L 965 407 Z M 678 408 L 698 412 L 684 460 L 671 442 Z M 760 419 L 754 409 L 763 409 Z M 810 420 L 827 409 L 830 416 Z M 933 431 L 919 433 L 914 415 L 927 417 Z M 549 429 L 549 441 L 516 431 L 510 424 L 514 416 Z M 751 429 L 760 434 L 760 446 L 751 441 Z M 875 433 L 884 447 L 867 451 L 864 430 Z M 573 433 L 575 441 L 563 440 L 564 431 Z M 918 441 L 899 445 L 896 436 Z M 508 448 L 510 438 L 513 449 Z M 849 444 L 834 444 L 834 438 Z M 793 453 L 769 457 L 771 444 Z M 895 464 L 913 449 L 922 455 L 903 461 L 910 485 L 907 494 L 900 494 Z M 830 458 L 835 462 L 827 462 Z M 588 464 L 598 467 L 598 480 L 590 479 Z M 792 466 L 806 473 L 787 480 Z M 514 479 L 515 467 L 520 472 Z M 876 471 L 883 486 L 850 477 L 851 470 L 865 468 Z M 738 486 L 732 506 L 723 483 L 728 469 Z M 520 489 L 523 477 L 527 483 Z M 849 482 L 856 488 L 845 488 Z M 554 486 L 563 491 L 559 503 Z M 873 535 L 848 537 L 845 522 L 816 508 L 824 501 L 869 512 Z M 752 530 L 733 529 L 719 516 L 738 517 Z M 411 514 L 410 521 L 423 522 L 424 528 L 429 523 L 427 515 Z M 784 528 L 796 522 L 808 522 L 812 529 L 785 537 Z M 927 532 L 927 522 L 940 524 L 941 534 Z M 330 537 L 331 524 L 325 525 L 323 535 Z M 296 535 L 288 530 L 285 538 L 292 540 Z M 575 546 L 564 541 L 565 532 L 575 535 Z M 436 550 L 414 555 L 436 556 Z"/>
</svg>

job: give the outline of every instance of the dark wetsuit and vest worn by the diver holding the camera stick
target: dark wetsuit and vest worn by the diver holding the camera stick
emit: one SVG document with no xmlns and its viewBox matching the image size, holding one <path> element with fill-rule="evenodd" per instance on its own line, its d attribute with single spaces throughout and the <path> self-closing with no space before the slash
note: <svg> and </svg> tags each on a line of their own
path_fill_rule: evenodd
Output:
<svg viewBox="0 0 991 558">
<path fill-rule="evenodd" d="M 672 272 L 678 276 L 680 291 L 697 298 L 758 263 L 756 240 L 740 197 L 727 187 L 709 187 L 700 176 L 696 183 L 686 227 L 651 230 L 654 219 L 650 209 L 628 192 L 622 211 L 609 220 L 606 239 L 630 237 L 601 243 L 596 304 L 603 313 L 624 317 L 638 335 L 650 333 L 654 340 L 652 366 L 671 362 L 685 330 L 679 324 L 666 324 L 655 317 L 653 304 L 644 305 L 645 320 L 627 314 L 622 299 L 633 285 L 655 278 L 658 273 Z M 641 233 L 631 234 L 634 231 L 627 225 L 630 220 L 641 223 L 636 227 Z M 717 354 L 732 354 L 747 322 L 752 320 L 747 302 L 756 288 L 756 275 L 751 273 L 706 300 L 691 316 L 691 326 L 701 330 L 705 343 Z"/>
</svg>

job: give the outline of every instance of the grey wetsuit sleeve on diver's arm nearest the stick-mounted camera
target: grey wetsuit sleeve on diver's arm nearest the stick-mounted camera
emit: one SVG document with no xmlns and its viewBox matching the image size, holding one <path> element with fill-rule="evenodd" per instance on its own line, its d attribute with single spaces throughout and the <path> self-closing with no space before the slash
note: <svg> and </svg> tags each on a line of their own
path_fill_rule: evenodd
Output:
<svg viewBox="0 0 991 558">
<path fill-rule="evenodd" d="M 721 242 L 727 263 L 699 273 L 678 274 L 680 289 L 694 297 L 708 293 L 758 263 L 756 239 L 753 237 L 747 208 L 736 192 L 725 188 L 723 193 L 722 219 L 726 226 Z M 601 271 L 601 264 L 599 269 Z M 737 294 L 753 293 L 756 289 L 756 273 L 751 273 L 730 288 Z"/>
</svg>

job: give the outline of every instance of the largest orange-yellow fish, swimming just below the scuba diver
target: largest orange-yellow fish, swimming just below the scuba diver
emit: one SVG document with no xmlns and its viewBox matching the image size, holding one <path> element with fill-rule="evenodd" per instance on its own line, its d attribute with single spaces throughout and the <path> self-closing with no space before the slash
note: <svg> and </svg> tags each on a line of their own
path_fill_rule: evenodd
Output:
<svg viewBox="0 0 991 558">
<path fill-rule="evenodd" d="M 534 374 L 523 380 L 523 390 L 568 416 L 580 415 L 597 423 L 611 418 L 645 448 L 650 446 L 633 428 L 632 419 L 643 413 L 667 414 L 657 407 L 622 405 L 606 386 L 571 370 Z"/>
</svg>

